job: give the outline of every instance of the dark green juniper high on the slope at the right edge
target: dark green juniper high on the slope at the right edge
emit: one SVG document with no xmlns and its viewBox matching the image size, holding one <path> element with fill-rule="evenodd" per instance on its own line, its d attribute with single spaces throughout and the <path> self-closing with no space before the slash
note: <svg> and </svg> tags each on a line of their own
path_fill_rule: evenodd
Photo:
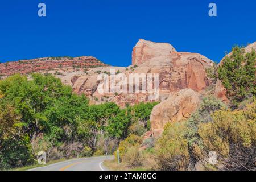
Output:
<svg viewBox="0 0 256 182">
<path fill-rule="evenodd" d="M 256 94 L 256 55 L 252 49 L 245 54 L 240 47 L 233 47 L 232 55 L 226 56 L 218 68 L 218 78 L 227 90 L 227 96 L 237 106 L 238 102 Z"/>
</svg>

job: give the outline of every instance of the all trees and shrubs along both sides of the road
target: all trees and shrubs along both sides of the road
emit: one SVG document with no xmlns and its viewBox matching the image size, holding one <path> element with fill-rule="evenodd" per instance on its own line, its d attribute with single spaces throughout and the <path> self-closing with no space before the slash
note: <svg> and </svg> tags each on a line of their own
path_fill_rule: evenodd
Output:
<svg viewBox="0 0 256 182">
<path fill-rule="evenodd" d="M 114 154 L 105 165 L 116 170 L 255 171 L 256 55 L 239 47 L 232 53 L 207 71 L 222 81 L 229 102 L 204 94 L 190 118 L 168 123 L 158 138 L 148 136 L 157 102 L 89 105 L 52 75 L 0 80 L 0 169 L 36 164 L 43 150 L 48 161 Z M 216 164 L 209 163 L 210 151 Z"/>
</svg>

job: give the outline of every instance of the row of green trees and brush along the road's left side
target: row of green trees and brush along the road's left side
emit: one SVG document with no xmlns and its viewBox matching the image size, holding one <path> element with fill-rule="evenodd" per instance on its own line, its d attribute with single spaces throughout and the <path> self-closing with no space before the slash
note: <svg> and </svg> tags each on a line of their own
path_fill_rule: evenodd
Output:
<svg viewBox="0 0 256 182">
<path fill-rule="evenodd" d="M 48 161 L 113 154 L 130 133 L 148 130 L 157 104 L 120 109 L 112 102 L 88 103 L 53 75 L 17 74 L 1 80 L 0 169 L 35 164 L 42 150 Z"/>
</svg>

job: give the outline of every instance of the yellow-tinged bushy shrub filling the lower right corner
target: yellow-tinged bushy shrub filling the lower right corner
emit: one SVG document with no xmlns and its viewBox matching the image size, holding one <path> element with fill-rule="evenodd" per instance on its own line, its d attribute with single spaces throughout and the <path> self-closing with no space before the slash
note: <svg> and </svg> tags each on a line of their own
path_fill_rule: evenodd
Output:
<svg viewBox="0 0 256 182">
<path fill-rule="evenodd" d="M 202 123 L 199 135 L 205 153 L 216 151 L 225 170 L 255 170 L 256 102 L 245 110 L 217 111 Z"/>
</svg>

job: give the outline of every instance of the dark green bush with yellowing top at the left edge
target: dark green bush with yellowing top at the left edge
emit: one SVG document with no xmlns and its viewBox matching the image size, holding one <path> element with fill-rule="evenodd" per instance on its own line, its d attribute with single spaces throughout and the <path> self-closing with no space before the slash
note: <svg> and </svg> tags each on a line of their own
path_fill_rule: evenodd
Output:
<svg viewBox="0 0 256 182">
<path fill-rule="evenodd" d="M 0 104 L 1 105 L 1 104 Z M 0 106 L 0 169 L 34 162 L 28 135 L 22 133 L 19 115 L 10 105 Z"/>
</svg>

